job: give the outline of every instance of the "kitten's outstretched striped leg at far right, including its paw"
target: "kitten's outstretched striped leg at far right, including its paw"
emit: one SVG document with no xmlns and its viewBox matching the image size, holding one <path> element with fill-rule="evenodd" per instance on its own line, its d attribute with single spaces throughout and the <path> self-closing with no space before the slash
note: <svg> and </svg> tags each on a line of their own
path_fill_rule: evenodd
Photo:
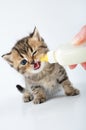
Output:
<svg viewBox="0 0 86 130">
<path fill-rule="evenodd" d="M 64 91 L 65 91 L 65 94 L 67 96 L 75 96 L 75 95 L 78 95 L 80 93 L 78 89 L 76 89 L 72 86 L 69 79 L 61 81 L 61 84 L 62 84 Z"/>
</svg>

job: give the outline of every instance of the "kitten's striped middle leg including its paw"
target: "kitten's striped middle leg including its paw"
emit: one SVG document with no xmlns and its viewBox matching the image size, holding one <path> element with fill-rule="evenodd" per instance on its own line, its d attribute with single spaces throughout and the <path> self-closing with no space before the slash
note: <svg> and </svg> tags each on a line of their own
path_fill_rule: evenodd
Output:
<svg viewBox="0 0 86 130">
<path fill-rule="evenodd" d="M 41 86 L 32 86 L 31 89 L 34 96 L 34 104 L 40 104 L 46 101 L 46 93 Z"/>
</svg>

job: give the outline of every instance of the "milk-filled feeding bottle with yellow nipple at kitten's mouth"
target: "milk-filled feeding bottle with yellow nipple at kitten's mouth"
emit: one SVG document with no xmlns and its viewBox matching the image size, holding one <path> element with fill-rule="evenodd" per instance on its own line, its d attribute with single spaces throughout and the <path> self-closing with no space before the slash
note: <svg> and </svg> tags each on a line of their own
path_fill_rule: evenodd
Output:
<svg viewBox="0 0 86 130">
<path fill-rule="evenodd" d="M 49 63 L 58 62 L 63 66 L 86 62 L 86 44 L 81 46 L 70 43 L 62 45 L 56 51 L 49 51 L 40 60 Z"/>
</svg>

